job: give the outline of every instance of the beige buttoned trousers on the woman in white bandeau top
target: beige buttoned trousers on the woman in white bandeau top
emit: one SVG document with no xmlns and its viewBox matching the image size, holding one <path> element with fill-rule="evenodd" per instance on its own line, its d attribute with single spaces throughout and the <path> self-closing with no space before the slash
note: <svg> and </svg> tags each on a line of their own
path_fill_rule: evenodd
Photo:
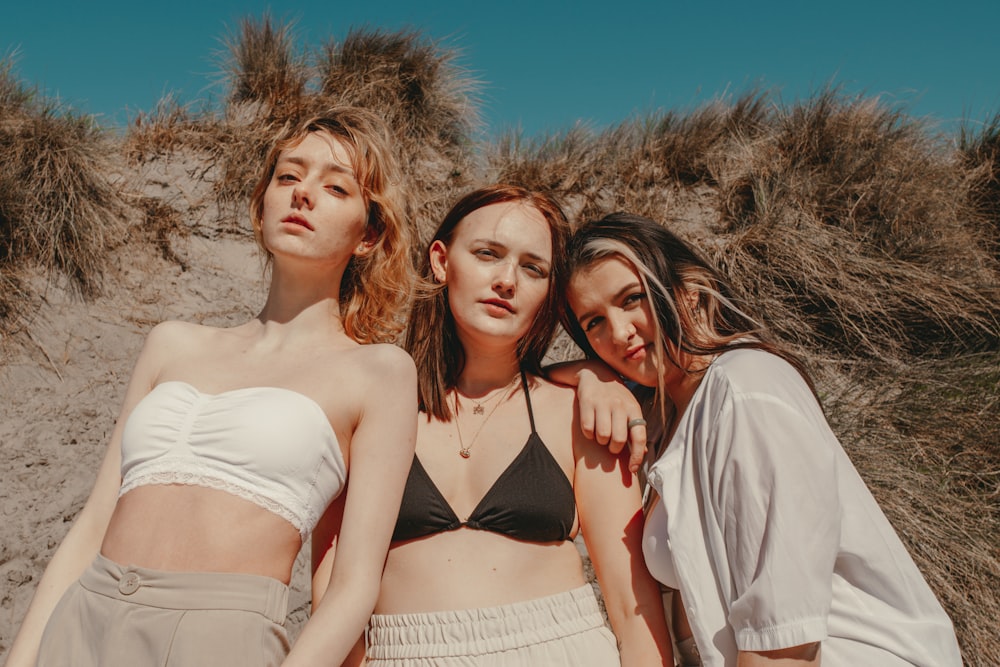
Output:
<svg viewBox="0 0 1000 667">
<path fill-rule="evenodd" d="M 162 572 L 98 555 L 60 600 L 40 667 L 279 665 L 288 587 L 247 574 Z"/>
</svg>

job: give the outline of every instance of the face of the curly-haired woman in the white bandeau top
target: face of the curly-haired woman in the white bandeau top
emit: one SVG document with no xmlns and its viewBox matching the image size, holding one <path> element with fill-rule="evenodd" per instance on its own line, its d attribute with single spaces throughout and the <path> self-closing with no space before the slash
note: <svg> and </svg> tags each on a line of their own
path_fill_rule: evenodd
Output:
<svg viewBox="0 0 1000 667">
<path fill-rule="evenodd" d="M 264 193 L 264 247 L 276 258 L 347 266 L 371 247 L 363 195 L 348 148 L 326 132 L 307 134 L 278 155 Z"/>
</svg>

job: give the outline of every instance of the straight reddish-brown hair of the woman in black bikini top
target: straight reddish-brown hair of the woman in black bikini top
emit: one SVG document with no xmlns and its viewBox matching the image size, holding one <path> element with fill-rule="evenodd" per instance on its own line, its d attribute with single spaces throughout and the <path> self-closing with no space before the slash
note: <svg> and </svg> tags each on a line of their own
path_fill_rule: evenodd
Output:
<svg viewBox="0 0 1000 667">
<path fill-rule="evenodd" d="M 558 308 L 567 279 L 566 243 L 570 227 L 559 204 L 546 194 L 516 185 L 497 184 L 479 188 L 462 197 L 451 208 L 428 247 L 434 241 L 450 245 L 458 224 L 466 216 L 492 204 L 507 202 L 530 206 L 541 213 L 549 223 L 552 236 L 548 294 L 535 313 L 528 333 L 517 342 L 521 368 L 538 374 L 559 323 Z M 417 365 L 417 386 L 423 409 L 438 419 L 450 419 L 452 413 L 446 397 L 465 366 L 465 352 L 448 307 L 447 287 L 434 281 L 429 255 L 424 257 L 421 266 L 420 288 L 410 312 L 404 346 Z"/>
</svg>

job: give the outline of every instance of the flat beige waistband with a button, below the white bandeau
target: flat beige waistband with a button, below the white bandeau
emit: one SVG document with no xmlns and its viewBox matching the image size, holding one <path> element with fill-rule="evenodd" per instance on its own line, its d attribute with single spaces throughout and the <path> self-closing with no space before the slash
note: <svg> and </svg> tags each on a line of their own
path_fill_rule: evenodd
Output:
<svg viewBox="0 0 1000 667">
<path fill-rule="evenodd" d="M 288 586 L 256 574 L 167 572 L 119 565 L 97 554 L 80 575 L 80 585 L 98 595 L 161 609 L 250 611 L 279 624 L 288 614 Z"/>
</svg>

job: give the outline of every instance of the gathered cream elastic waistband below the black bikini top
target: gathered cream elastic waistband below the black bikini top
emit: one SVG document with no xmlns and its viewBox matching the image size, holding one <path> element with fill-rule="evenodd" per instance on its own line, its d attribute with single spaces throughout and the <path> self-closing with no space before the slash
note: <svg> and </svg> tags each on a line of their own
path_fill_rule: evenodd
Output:
<svg viewBox="0 0 1000 667">
<path fill-rule="evenodd" d="M 374 614 L 365 630 L 372 659 L 438 658 L 506 651 L 605 626 L 589 584 L 499 607 Z"/>
</svg>

